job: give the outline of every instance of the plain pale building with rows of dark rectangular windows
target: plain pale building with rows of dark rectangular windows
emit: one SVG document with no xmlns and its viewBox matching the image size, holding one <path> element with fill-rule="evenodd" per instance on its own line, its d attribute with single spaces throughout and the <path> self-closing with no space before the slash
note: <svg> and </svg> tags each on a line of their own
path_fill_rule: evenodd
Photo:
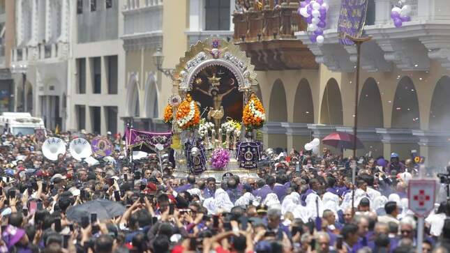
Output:
<svg viewBox="0 0 450 253">
<path fill-rule="evenodd" d="M 68 82 L 68 130 L 123 133 L 126 103 L 123 19 L 119 0 L 70 1 L 72 55 Z"/>
</svg>

